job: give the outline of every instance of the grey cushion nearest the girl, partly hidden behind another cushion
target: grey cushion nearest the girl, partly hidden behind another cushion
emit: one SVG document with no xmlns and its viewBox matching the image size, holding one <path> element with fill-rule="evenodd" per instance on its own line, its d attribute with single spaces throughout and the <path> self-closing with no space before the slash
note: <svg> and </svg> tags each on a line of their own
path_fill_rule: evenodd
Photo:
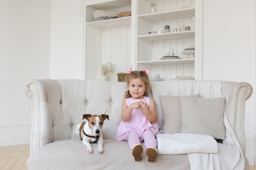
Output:
<svg viewBox="0 0 256 170">
<path fill-rule="evenodd" d="M 200 97 L 200 94 L 188 97 Z M 159 95 L 162 106 L 164 133 L 173 134 L 181 130 L 180 96 Z"/>
</svg>

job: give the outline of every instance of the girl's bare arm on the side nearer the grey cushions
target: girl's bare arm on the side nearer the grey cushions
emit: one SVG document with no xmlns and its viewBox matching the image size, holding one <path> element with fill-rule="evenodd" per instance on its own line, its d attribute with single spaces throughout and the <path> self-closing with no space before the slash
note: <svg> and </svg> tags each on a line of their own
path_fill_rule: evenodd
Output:
<svg viewBox="0 0 256 170">
<path fill-rule="evenodd" d="M 157 122 L 157 110 L 155 108 L 154 99 L 150 98 L 149 107 L 148 107 L 148 104 L 145 102 L 141 105 L 140 109 L 144 113 L 148 121 L 150 121 L 151 124 L 154 124 Z"/>
</svg>

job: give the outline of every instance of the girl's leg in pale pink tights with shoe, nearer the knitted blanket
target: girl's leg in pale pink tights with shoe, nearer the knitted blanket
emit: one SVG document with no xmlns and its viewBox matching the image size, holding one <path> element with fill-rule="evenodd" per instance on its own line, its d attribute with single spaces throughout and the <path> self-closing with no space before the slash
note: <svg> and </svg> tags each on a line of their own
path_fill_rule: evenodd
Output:
<svg viewBox="0 0 256 170">
<path fill-rule="evenodd" d="M 155 135 L 151 130 L 146 130 L 142 137 L 144 139 L 144 144 L 147 148 L 146 154 L 148 156 L 149 162 L 155 162 L 155 159 L 157 158 L 157 140 L 155 139 Z"/>
</svg>

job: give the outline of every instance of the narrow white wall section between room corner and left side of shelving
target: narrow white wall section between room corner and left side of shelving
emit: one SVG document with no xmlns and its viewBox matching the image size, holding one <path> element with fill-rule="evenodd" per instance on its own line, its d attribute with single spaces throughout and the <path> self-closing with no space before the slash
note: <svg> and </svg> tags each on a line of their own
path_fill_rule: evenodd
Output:
<svg viewBox="0 0 256 170">
<path fill-rule="evenodd" d="M 51 0 L 51 79 L 83 79 L 83 0 Z"/>
</svg>

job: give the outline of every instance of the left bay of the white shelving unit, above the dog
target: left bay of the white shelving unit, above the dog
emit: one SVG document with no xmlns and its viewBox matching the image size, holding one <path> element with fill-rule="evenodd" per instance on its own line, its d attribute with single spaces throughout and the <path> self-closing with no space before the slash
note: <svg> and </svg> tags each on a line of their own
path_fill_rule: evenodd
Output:
<svg viewBox="0 0 256 170">
<path fill-rule="evenodd" d="M 132 17 L 91 21 L 94 11 L 131 11 L 132 0 L 85 0 L 84 1 L 85 79 L 94 79 L 97 64 L 113 62 L 116 73 L 130 66 Z M 129 65 L 129 66 L 127 66 Z M 111 81 L 117 81 L 117 74 Z"/>
</svg>

